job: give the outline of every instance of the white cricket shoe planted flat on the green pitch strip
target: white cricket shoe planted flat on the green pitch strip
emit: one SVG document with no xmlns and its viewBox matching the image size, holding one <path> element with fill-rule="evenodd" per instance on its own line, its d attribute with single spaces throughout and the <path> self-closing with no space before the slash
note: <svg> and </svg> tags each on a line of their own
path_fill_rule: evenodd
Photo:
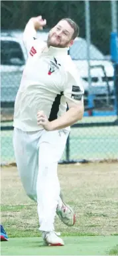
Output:
<svg viewBox="0 0 118 256">
<path fill-rule="evenodd" d="M 52 231 L 52 232 L 43 231 L 42 238 L 46 245 L 50 245 L 50 246 L 64 245 L 64 241 L 60 237 L 58 237 L 58 235 L 56 235 L 56 233 L 54 231 Z"/>
</svg>

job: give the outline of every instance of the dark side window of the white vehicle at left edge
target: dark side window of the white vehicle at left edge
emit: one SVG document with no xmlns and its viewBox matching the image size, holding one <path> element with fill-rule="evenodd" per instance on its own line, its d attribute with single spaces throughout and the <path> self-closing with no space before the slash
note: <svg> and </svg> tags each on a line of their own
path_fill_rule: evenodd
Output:
<svg viewBox="0 0 118 256">
<path fill-rule="evenodd" d="M 14 63 L 13 59 L 17 61 Z M 21 45 L 16 41 L 1 40 L 1 65 L 23 65 L 24 63 Z"/>
</svg>

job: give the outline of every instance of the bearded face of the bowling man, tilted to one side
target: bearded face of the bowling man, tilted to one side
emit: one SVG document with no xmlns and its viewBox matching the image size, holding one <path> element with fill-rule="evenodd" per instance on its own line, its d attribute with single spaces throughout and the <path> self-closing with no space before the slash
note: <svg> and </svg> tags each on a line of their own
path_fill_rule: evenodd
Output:
<svg viewBox="0 0 118 256">
<path fill-rule="evenodd" d="M 74 42 L 72 39 L 73 33 L 74 29 L 67 21 L 59 21 L 58 24 L 53 27 L 48 34 L 48 47 L 69 47 Z"/>
</svg>

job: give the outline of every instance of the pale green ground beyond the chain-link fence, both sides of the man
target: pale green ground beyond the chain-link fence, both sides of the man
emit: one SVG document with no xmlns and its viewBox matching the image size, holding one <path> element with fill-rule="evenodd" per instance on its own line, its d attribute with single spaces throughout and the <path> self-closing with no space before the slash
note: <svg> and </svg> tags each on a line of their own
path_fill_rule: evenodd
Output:
<svg viewBox="0 0 118 256">
<path fill-rule="evenodd" d="M 113 122 L 115 117 L 84 118 L 81 122 Z M 12 125 L 5 122 L 2 126 Z M 70 160 L 116 159 L 118 156 L 118 126 L 72 128 L 70 132 Z M 62 156 L 66 160 L 66 152 Z M 13 131 L 1 132 L 1 162 L 15 162 Z"/>
</svg>

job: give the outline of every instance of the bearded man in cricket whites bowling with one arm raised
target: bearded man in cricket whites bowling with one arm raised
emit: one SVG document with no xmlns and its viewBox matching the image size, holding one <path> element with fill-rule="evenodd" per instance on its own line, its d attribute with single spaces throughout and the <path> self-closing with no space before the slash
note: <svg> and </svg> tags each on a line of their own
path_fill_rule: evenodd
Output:
<svg viewBox="0 0 118 256">
<path fill-rule="evenodd" d="M 72 19 L 62 19 L 50 30 L 47 43 L 36 39 L 36 30 L 44 25 L 46 19 L 38 16 L 25 27 L 29 58 L 15 100 L 13 144 L 23 186 L 37 202 L 42 238 L 48 245 L 64 245 L 54 232 L 54 217 L 57 213 L 71 226 L 75 215 L 60 198 L 57 166 L 69 126 L 84 114 L 84 90 L 68 55 L 78 25 Z"/>
</svg>

